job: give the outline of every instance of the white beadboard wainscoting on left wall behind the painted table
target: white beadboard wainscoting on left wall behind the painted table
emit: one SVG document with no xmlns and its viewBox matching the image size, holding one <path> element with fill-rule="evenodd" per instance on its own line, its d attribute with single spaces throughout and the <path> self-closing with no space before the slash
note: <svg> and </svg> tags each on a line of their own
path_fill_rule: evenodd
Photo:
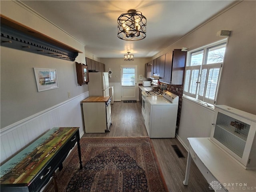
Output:
<svg viewBox="0 0 256 192">
<path fill-rule="evenodd" d="M 54 127 L 80 127 L 81 137 L 84 134 L 84 126 L 80 102 L 88 96 L 89 92 L 85 92 L 2 128 L 0 130 L 1 164 Z"/>
</svg>

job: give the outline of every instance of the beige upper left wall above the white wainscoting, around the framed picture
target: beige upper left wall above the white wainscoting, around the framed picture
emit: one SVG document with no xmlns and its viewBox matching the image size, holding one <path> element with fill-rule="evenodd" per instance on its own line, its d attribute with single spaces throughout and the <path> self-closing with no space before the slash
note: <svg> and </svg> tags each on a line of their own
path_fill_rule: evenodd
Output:
<svg viewBox="0 0 256 192">
<path fill-rule="evenodd" d="M 1 14 L 77 50 L 84 50 L 78 40 L 18 2 L 1 1 Z M 77 84 L 75 62 L 2 46 L 0 61 L 1 129 L 88 91 L 87 85 Z M 76 61 L 85 63 L 84 54 L 78 54 Z M 59 88 L 37 92 L 33 68 L 56 69 Z"/>
</svg>

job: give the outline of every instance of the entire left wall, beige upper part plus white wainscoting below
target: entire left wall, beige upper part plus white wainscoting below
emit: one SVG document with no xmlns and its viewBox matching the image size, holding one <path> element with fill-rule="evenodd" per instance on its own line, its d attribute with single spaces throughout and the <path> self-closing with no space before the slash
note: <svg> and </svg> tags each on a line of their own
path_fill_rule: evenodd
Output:
<svg viewBox="0 0 256 192">
<path fill-rule="evenodd" d="M 76 50 L 84 44 L 16 1 L 1 1 L 1 14 Z M 75 62 L 1 46 L 0 160 L 4 162 L 53 127 L 80 127 L 80 102 L 88 86 L 78 86 Z M 84 54 L 77 62 L 85 63 Z M 57 70 L 59 88 L 37 92 L 33 68 Z M 68 97 L 70 92 L 70 97 Z"/>
</svg>

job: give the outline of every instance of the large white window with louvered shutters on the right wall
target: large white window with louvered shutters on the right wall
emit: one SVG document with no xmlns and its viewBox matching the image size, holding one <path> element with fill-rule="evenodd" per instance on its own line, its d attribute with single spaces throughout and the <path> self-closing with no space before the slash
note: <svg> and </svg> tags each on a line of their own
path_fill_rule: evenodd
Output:
<svg viewBox="0 0 256 192">
<path fill-rule="evenodd" d="M 188 52 L 183 94 L 215 104 L 227 39 Z"/>
</svg>

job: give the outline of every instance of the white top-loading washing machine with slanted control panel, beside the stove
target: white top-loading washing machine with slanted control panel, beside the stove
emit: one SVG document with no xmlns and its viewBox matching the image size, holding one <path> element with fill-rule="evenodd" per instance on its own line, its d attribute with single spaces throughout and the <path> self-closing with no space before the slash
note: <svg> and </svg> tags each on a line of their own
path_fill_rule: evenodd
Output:
<svg viewBox="0 0 256 192">
<path fill-rule="evenodd" d="M 150 138 L 174 138 L 179 96 L 166 91 L 162 97 L 146 97 L 145 126 Z"/>
</svg>

